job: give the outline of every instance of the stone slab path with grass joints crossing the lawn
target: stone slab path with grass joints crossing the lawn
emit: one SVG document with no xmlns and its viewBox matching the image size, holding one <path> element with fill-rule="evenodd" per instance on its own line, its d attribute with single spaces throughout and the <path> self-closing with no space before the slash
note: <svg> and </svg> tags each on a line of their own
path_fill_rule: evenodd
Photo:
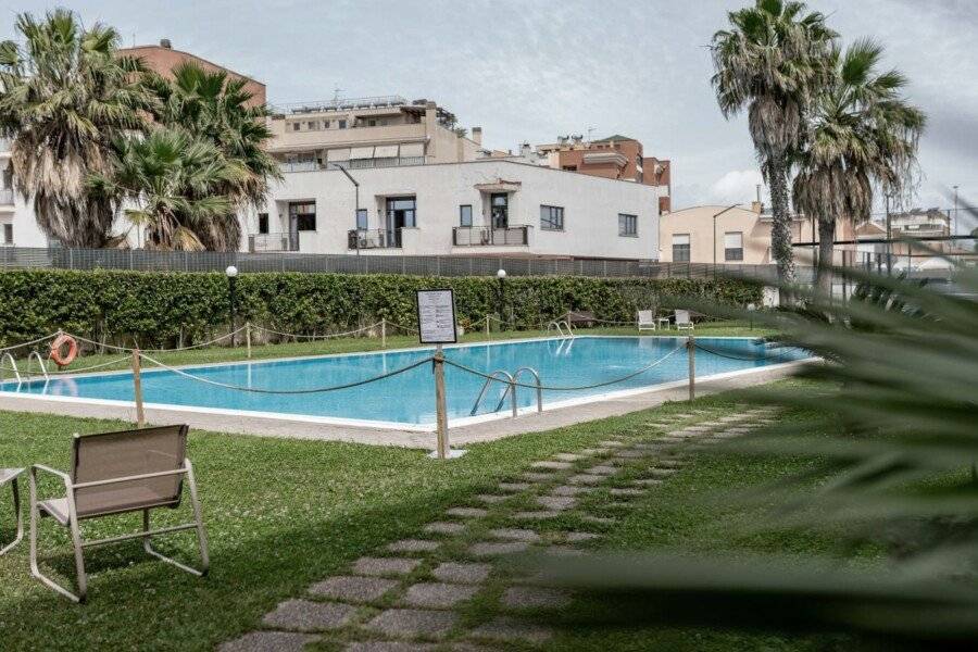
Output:
<svg viewBox="0 0 978 652">
<path fill-rule="evenodd" d="M 522 614 L 563 609 L 574 595 L 522 575 L 506 555 L 600 546 L 616 516 L 681 472 L 686 453 L 770 424 L 775 412 L 744 408 L 715 421 L 703 421 L 706 410 L 664 415 L 638 432 L 532 462 L 492 493 L 447 510 L 416 538 L 385 543 L 280 603 L 262 629 L 220 649 L 300 651 L 331 640 L 347 652 L 488 652 L 543 643 L 554 632 Z M 466 612 L 473 601 L 480 609 Z"/>
</svg>

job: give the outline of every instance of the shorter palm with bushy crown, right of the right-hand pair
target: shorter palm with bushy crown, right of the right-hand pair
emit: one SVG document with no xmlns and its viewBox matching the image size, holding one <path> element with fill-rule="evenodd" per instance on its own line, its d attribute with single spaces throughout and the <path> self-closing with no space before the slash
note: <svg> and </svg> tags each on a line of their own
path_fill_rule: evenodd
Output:
<svg viewBox="0 0 978 652">
<path fill-rule="evenodd" d="M 878 71 L 882 52 L 869 39 L 844 53 L 832 48 L 831 74 L 798 152 L 794 208 L 818 221 L 818 287 L 826 296 L 836 223 L 868 220 L 874 185 L 900 195 L 916 166 L 926 117 L 901 97 L 906 78 L 899 71 Z"/>
</svg>

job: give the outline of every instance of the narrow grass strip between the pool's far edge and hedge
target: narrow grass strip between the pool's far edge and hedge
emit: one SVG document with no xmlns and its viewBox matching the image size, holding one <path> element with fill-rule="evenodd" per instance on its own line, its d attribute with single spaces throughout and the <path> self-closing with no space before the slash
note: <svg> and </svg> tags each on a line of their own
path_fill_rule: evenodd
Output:
<svg viewBox="0 0 978 652">
<path fill-rule="evenodd" d="M 598 328 L 579 328 L 576 330 L 578 335 L 629 335 L 635 336 L 639 335 L 638 330 L 632 327 L 598 327 Z M 702 324 L 698 324 L 695 328 L 695 335 L 699 337 L 766 337 L 774 335 L 774 331 L 763 328 L 761 326 L 753 326 L 747 322 L 704 322 Z M 516 339 L 516 338 L 526 338 L 526 337 L 547 337 L 553 336 L 554 333 L 546 330 L 505 330 L 505 331 L 492 331 L 489 334 L 488 339 L 490 341 L 497 341 L 501 339 Z M 660 330 L 660 331 L 642 331 L 642 337 L 650 337 L 655 335 L 663 336 L 686 336 L 687 331 L 678 331 L 675 329 L 670 330 Z M 476 330 L 473 333 L 466 333 L 462 336 L 463 342 L 480 342 L 486 341 L 486 333 L 484 330 Z M 403 349 L 411 347 L 419 347 L 416 335 L 394 335 L 389 336 L 387 338 L 387 348 L 388 349 Z M 298 341 L 298 342 L 285 342 L 277 344 L 265 344 L 265 346 L 255 346 L 251 349 L 251 358 L 252 360 L 262 360 L 262 359 L 272 359 L 272 358 L 289 358 L 289 356 L 301 356 L 301 355 L 325 355 L 329 353 L 352 353 L 359 351 L 379 351 L 381 349 L 381 341 L 378 337 L 344 337 L 344 338 L 336 338 L 336 339 L 327 339 L 327 340 L 318 340 L 318 341 Z M 22 355 L 25 355 L 26 352 L 21 352 Z M 41 348 L 41 354 L 47 356 L 47 349 Z M 237 347 L 231 348 L 229 346 L 222 347 L 210 347 L 204 349 L 191 349 L 189 351 L 175 351 L 175 352 L 148 352 L 148 355 L 151 358 L 159 360 L 163 364 L 167 365 L 180 365 L 180 364 L 206 364 L 212 362 L 231 362 L 238 360 L 247 359 L 247 350 L 244 347 L 244 337 L 243 334 L 238 337 Z M 108 354 L 86 354 L 84 356 L 78 358 L 67 372 L 72 372 L 72 369 L 79 369 L 95 365 L 101 365 L 104 363 L 112 362 L 114 360 L 121 360 L 118 364 L 110 365 L 97 371 L 112 371 L 112 369 L 121 369 L 128 368 L 130 362 L 128 359 L 122 360 L 126 356 L 125 353 L 108 353 Z M 53 365 L 48 363 L 51 368 Z M 3 367 L 3 376 L 5 378 L 11 377 L 11 372 L 8 371 L 9 362 L 4 364 L 0 364 Z M 25 373 L 27 371 L 27 360 L 26 358 L 21 358 L 17 360 L 17 367 L 21 369 L 21 373 Z M 34 363 L 33 373 L 38 374 L 37 362 Z"/>
</svg>

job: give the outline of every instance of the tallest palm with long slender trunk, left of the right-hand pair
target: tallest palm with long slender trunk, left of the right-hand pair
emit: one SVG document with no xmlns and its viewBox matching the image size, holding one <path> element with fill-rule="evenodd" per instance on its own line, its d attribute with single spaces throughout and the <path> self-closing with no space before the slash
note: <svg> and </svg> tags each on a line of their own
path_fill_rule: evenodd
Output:
<svg viewBox="0 0 978 652">
<path fill-rule="evenodd" d="M 724 116 L 744 108 L 761 171 L 770 188 L 772 253 L 781 283 L 794 279 L 788 177 L 791 152 L 801 142 L 812 91 L 824 74 L 836 33 L 802 2 L 755 0 L 730 12 L 730 29 L 714 34 L 712 84 Z"/>
</svg>

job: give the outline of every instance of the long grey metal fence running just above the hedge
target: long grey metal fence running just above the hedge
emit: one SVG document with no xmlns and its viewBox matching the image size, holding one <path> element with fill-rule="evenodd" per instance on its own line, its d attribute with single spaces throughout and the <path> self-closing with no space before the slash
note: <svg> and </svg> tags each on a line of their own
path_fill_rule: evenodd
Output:
<svg viewBox="0 0 978 652">
<path fill-rule="evenodd" d="M 0 269 L 134 269 L 141 272 L 330 272 L 338 274 L 409 274 L 415 276 L 592 276 L 714 278 L 723 275 L 774 280 L 774 265 L 710 265 L 599 259 L 437 256 L 387 254 L 312 254 L 298 252 L 184 252 L 141 249 L 42 249 L 0 247 Z M 802 283 L 811 268 L 799 269 Z"/>
</svg>

